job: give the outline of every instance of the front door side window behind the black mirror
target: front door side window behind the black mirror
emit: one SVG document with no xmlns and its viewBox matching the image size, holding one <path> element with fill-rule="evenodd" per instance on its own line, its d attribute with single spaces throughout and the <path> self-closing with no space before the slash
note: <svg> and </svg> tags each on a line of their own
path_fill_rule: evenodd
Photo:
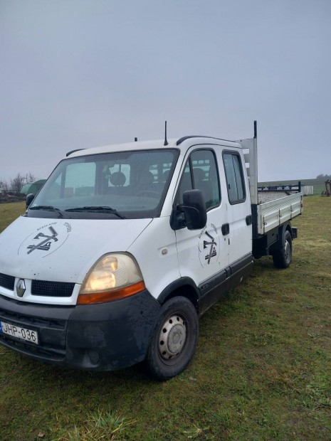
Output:
<svg viewBox="0 0 331 441">
<path fill-rule="evenodd" d="M 195 150 L 186 161 L 184 173 L 177 192 L 177 203 L 183 203 L 183 193 L 187 190 L 199 189 L 204 195 L 206 209 L 219 206 L 219 175 L 216 159 L 211 150 Z"/>
</svg>

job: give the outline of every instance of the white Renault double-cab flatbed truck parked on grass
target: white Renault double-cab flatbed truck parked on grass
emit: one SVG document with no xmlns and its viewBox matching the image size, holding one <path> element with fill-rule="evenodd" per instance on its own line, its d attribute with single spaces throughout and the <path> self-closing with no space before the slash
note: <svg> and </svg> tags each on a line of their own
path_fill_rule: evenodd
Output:
<svg viewBox="0 0 331 441">
<path fill-rule="evenodd" d="M 272 255 L 303 194 L 258 201 L 252 139 L 188 136 L 67 154 L 0 235 L 0 344 L 69 368 L 191 361 L 198 319 Z"/>
</svg>

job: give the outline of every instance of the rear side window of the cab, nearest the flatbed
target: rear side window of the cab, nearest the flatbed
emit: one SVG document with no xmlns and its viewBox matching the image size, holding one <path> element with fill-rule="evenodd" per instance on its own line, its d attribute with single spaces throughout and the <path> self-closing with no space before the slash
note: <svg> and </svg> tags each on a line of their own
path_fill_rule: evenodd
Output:
<svg viewBox="0 0 331 441">
<path fill-rule="evenodd" d="M 243 180 L 243 167 L 240 156 L 236 153 L 223 154 L 226 186 L 228 188 L 228 201 L 240 203 L 246 201 L 245 182 Z"/>
</svg>

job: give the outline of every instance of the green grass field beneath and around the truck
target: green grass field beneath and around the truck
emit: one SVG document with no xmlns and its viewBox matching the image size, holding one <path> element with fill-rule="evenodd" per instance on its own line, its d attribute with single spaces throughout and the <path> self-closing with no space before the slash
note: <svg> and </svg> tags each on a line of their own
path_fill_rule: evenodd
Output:
<svg viewBox="0 0 331 441">
<path fill-rule="evenodd" d="M 331 198 L 295 219 L 288 270 L 266 257 L 200 320 L 182 375 L 69 371 L 0 347 L 0 439 L 331 440 Z M 24 209 L 0 205 L 0 230 Z"/>
</svg>

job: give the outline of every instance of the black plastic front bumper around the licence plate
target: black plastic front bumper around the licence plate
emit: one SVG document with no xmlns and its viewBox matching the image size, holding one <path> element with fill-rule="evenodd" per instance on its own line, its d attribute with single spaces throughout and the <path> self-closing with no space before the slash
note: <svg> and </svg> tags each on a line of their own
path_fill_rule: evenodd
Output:
<svg viewBox="0 0 331 441">
<path fill-rule="evenodd" d="M 0 333 L 0 344 L 68 368 L 114 371 L 145 358 L 159 307 L 147 290 L 115 302 L 75 307 L 0 296 L 0 321 L 39 336 L 36 345 Z"/>
</svg>

